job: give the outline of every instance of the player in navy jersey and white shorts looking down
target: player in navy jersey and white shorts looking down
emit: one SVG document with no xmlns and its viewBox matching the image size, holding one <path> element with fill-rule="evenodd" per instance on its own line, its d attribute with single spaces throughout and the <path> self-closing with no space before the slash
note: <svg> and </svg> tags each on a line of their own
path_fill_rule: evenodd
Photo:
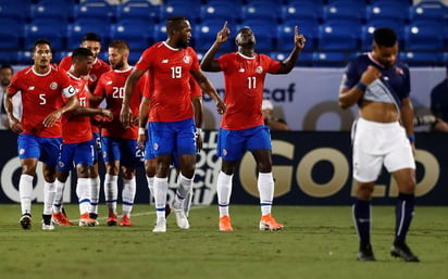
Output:
<svg viewBox="0 0 448 279">
<path fill-rule="evenodd" d="M 397 181 L 393 256 L 419 258 L 406 244 L 414 214 L 415 162 L 410 75 L 397 60 L 398 40 L 391 28 L 376 28 L 372 51 L 352 60 L 343 77 L 339 105 L 359 107 L 353 124 L 353 179 L 357 181 L 353 220 L 359 236 L 359 261 L 375 261 L 371 245 L 371 199 L 382 166 Z"/>
</svg>

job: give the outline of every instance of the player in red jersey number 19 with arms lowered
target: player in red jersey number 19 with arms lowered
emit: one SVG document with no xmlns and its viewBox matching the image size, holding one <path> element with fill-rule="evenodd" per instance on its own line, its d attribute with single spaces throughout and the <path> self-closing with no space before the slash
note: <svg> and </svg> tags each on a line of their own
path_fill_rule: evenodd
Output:
<svg viewBox="0 0 448 279">
<path fill-rule="evenodd" d="M 149 71 L 152 92 L 149 122 L 158 164 L 154 178 L 157 224 L 153 232 L 166 231 L 165 203 L 172 154 L 177 154 L 181 169 L 181 187 L 173 207 L 177 226 L 182 229 L 189 228 L 182 203 L 191 188 L 196 165 L 196 127 L 191 107 L 190 77 L 195 78 L 201 89 L 216 102 L 217 111 L 225 112 L 225 104 L 215 88 L 200 71 L 196 52 L 188 47 L 191 37 L 188 20 L 183 16 L 170 17 L 166 33 L 165 41 L 157 42 L 145 50 L 128 77 L 120 115 L 124 127 L 127 127 L 130 121 L 129 101 L 135 85 L 145 72 Z"/>
</svg>

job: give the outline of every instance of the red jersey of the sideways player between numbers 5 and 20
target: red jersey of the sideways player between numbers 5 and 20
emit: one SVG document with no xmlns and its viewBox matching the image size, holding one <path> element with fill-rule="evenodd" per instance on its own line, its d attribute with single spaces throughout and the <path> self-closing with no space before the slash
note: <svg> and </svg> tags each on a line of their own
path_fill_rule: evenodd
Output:
<svg viewBox="0 0 448 279">
<path fill-rule="evenodd" d="M 69 77 L 79 100 L 79 106 L 89 106 L 89 89 L 87 77 L 75 77 L 69 73 Z M 91 140 L 90 116 L 73 116 L 71 113 L 62 116 L 63 143 L 79 143 Z"/>
</svg>

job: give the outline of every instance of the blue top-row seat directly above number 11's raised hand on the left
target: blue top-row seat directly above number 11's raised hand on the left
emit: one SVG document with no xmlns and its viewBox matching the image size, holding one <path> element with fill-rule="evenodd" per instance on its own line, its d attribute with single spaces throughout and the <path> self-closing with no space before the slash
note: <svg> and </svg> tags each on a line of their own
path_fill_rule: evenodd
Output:
<svg viewBox="0 0 448 279">
<path fill-rule="evenodd" d="M 241 20 L 240 9 L 235 9 L 231 2 L 211 2 L 201 7 L 201 22 L 208 20 L 227 21 L 229 25 L 236 24 Z"/>
</svg>

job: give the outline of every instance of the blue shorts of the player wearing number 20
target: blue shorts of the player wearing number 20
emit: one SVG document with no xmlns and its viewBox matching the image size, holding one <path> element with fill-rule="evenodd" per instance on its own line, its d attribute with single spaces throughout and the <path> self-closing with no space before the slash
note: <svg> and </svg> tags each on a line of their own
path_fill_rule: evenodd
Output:
<svg viewBox="0 0 448 279">
<path fill-rule="evenodd" d="M 126 167 L 141 164 L 142 152 L 137 147 L 137 140 L 102 137 L 101 145 L 104 162 L 120 161 L 120 165 Z"/>
</svg>

